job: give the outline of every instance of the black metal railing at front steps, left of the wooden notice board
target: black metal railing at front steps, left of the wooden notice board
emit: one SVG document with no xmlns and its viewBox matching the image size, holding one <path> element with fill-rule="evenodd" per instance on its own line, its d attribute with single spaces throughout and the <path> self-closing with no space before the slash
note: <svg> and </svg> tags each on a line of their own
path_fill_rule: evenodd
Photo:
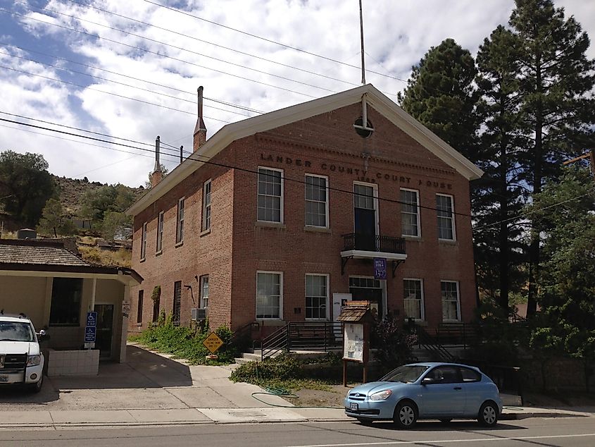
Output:
<svg viewBox="0 0 595 447">
<path fill-rule="evenodd" d="M 342 324 L 337 322 L 291 322 L 261 341 L 261 360 L 291 350 L 327 352 L 343 345 Z"/>
</svg>

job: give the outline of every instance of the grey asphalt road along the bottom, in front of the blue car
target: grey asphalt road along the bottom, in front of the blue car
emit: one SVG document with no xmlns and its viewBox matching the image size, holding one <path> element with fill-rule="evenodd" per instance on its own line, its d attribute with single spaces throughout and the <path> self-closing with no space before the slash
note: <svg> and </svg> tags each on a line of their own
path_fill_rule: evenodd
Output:
<svg viewBox="0 0 595 447">
<path fill-rule="evenodd" d="M 198 424 L 101 429 L 0 431 L 0 446 L 572 446 L 595 445 L 595 418 L 504 421 L 494 429 L 473 422 L 419 422 L 411 431 L 390 424 Z"/>
</svg>

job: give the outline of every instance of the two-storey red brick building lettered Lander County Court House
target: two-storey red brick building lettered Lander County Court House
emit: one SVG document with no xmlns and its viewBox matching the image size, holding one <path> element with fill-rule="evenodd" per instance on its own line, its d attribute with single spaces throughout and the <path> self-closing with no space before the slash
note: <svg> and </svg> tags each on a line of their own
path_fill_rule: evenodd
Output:
<svg viewBox="0 0 595 447">
<path fill-rule="evenodd" d="M 372 85 L 208 140 L 201 108 L 194 153 L 129 210 L 145 278 L 130 331 L 159 310 L 189 324 L 194 307 L 211 327 L 333 321 L 351 298 L 430 327 L 472 319 L 468 159 Z"/>
</svg>

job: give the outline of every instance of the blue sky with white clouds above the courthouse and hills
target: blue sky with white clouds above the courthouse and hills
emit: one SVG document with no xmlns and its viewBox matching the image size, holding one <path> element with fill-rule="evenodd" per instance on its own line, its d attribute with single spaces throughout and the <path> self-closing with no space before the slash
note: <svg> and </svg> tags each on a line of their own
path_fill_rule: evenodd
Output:
<svg viewBox="0 0 595 447">
<path fill-rule="evenodd" d="M 594 59 L 595 1 L 554 4 Z M 451 37 L 475 56 L 513 6 L 363 0 L 366 82 L 396 101 L 430 47 Z M 0 151 L 42 154 L 57 176 L 143 185 L 157 135 L 169 171 L 180 145 L 192 150 L 199 85 L 211 137 L 361 85 L 360 45 L 358 0 L 0 0 L 0 118 L 30 125 L 0 121 Z"/>
</svg>

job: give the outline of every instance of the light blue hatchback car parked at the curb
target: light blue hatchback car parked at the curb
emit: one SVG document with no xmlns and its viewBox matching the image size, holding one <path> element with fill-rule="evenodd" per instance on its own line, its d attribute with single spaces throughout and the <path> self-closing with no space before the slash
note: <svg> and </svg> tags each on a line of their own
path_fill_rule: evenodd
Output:
<svg viewBox="0 0 595 447">
<path fill-rule="evenodd" d="M 477 419 L 492 427 L 502 413 L 498 387 L 476 367 L 456 363 L 415 363 L 379 381 L 351 389 L 345 414 L 362 424 L 392 420 L 408 429 L 418 419 Z"/>
</svg>

